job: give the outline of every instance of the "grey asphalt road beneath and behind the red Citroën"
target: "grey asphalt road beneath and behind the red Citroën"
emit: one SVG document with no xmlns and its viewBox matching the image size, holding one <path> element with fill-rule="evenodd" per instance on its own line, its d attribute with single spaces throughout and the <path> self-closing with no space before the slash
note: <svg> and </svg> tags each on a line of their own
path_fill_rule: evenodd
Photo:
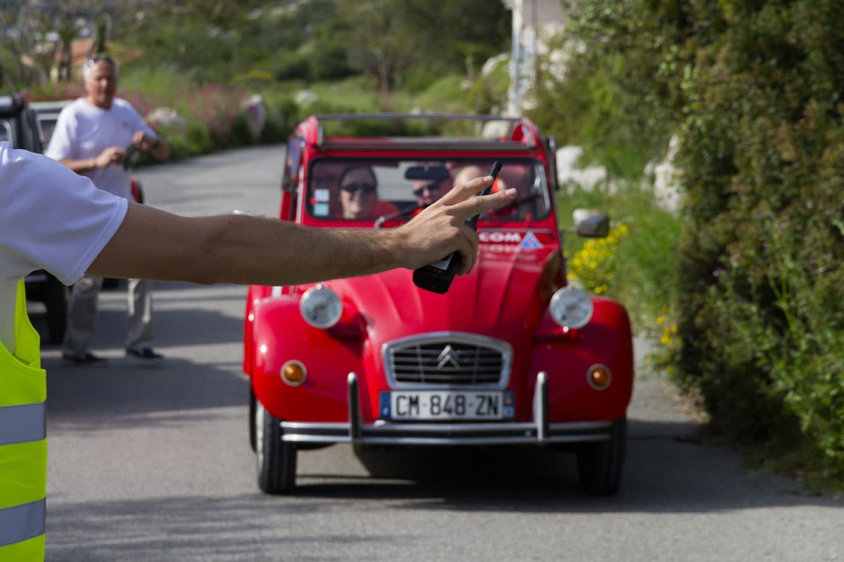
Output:
<svg viewBox="0 0 844 562">
<path fill-rule="evenodd" d="M 283 147 L 261 147 L 138 175 L 150 205 L 274 216 L 283 161 Z M 297 493 L 262 495 L 246 433 L 245 295 L 157 284 L 158 369 L 122 357 L 123 290 L 101 299 L 94 348 L 109 368 L 65 367 L 46 346 L 48 560 L 844 560 L 844 501 L 701 445 L 654 375 L 636 380 L 613 498 L 582 495 L 562 453 L 422 450 L 376 457 L 376 478 L 348 446 L 301 452 Z"/>
</svg>

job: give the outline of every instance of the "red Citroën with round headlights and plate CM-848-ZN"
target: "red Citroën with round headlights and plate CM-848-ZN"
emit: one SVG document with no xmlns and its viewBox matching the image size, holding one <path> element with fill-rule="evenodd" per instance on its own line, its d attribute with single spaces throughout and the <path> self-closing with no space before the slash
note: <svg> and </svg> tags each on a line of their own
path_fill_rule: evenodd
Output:
<svg viewBox="0 0 844 562">
<path fill-rule="evenodd" d="M 362 120 L 405 130 L 496 121 L 506 133 L 327 132 Z M 494 189 L 519 195 L 480 217 L 477 265 L 445 294 L 415 286 L 409 270 L 250 287 L 243 368 L 261 490 L 290 493 L 298 452 L 339 442 L 355 450 L 555 447 L 576 452 L 588 493 L 619 490 L 633 389 L 630 321 L 618 302 L 566 283 L 554 151 L 531 121 L 490 115 L 317 115 L 296 128 L 282 181 L 285 221 L 395 227 L 423 197 L 443 195 L 466 174 L 488 174 L 495 160 L 503 167 Z M 576 228 L 589 237 L 608 230 L 604 216 Z"/>
</svg>

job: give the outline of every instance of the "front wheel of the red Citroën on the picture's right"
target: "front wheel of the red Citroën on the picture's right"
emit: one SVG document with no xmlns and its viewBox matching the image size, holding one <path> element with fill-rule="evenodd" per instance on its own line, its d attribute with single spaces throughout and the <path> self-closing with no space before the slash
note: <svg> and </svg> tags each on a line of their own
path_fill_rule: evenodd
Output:
<svg viewBox="0 0 844 562">
<path fill-rule="evenodd" d="M 627 415 L 613 422 L 609 440 L 582 445 L 577 452 L 577 474 L 583 491 L 614 495 L 621 485 L 627 449 Z"/>
</svg>

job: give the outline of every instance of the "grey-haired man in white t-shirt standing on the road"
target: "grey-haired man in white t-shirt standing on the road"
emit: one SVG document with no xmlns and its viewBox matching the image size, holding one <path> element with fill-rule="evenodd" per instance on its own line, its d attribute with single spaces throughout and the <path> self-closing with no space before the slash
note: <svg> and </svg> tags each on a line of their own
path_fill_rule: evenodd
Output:
<svg viewBox="0 0 844 562">
<path fill-rule="evenodd" d="M 115 98 L 117 63 L 109 56 L 90 58 L 82 70 L 85 96 L 68 104 L 59 115 L 46 155 L 77 174 L 87 176 L 100 190 L 128 199 L 131 185 L 127 150 L 149 151 L 155 158 L 170 157 L 170 148 L 125 99 Z M 103 278 L 83 276 L 68 304 L 68 329 L 62 344 L 65 361 L 78 365 L 105 365 L 90 351 Z M 128 280 L 127 357 L 143 363 L 163 359 L 153 350 L 152 281 Z"/>
</svg>

